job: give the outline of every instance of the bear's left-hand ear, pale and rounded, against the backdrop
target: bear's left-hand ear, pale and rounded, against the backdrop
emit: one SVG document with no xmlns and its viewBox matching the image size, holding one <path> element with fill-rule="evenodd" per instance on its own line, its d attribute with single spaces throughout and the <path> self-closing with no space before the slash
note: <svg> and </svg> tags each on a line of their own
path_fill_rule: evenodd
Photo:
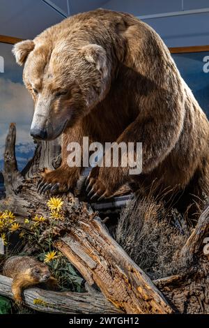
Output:
<svg viewBox="0 0 209 328">
<path fill-rule="evenodd" d="M 13 54 L 15 55 L 15 59 L 17 64 L 22 66 L 26 61 L 26 57 L 29 53 L 34 49 L 35 43 L 32 40 L 25 40 L 19 43 L 16 43 L 13 47 Z"/>
</svg>

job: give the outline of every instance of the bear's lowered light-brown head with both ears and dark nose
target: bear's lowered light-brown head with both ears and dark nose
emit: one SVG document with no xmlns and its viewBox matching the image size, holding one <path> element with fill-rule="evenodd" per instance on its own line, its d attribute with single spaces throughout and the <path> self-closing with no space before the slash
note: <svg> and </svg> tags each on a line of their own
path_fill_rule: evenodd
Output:
<svg viewBox="0 0 209 328">
<path fill-rule="evenodd" d="M 110 88 L 111 64 L 101 45 L 79 36 L 52 42 L 38 36 L 13 48 L 35 103 L 31 135 L 53 140 L 97 105 Z"/>
</svg>

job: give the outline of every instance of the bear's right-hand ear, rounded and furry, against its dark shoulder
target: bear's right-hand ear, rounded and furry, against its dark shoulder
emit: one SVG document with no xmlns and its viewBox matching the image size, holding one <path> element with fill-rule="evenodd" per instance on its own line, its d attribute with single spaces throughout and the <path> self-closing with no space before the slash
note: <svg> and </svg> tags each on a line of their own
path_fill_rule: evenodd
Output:
<svg viewBox="0 0 209 328">
<path fill-rule="evenodd" d="M 95 64 L 95 68 L 100 70 L 102 77 L 107 77 L 107 54 L 103 47 L 100 45 L 84 45 L 82 47 L 82 54 L 86 61 Z"/>
</svg>

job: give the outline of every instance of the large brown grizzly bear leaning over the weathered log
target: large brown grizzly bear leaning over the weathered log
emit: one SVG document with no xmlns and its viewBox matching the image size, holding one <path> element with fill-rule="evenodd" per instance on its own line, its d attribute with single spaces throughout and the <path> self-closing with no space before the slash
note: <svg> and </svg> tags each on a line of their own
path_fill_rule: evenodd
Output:
<svg viewBox="0 0 209 328">
<path fill-rule="evenodd" d="M 13 49 L 35 103 L 31 135 L 62 133 L 61 166 L 40 191 L 73 188 L 83 167 L 69 167 L 69 142 L 142 142 L 139 175 L 128 167 L 94 167 L 91 195 L 110 197 L 123 184 L 190 195 L 209 189 L 209 122 L 160 36 L 127 13 L 94 10 L 63 20 Z M 89 189 L 88 189 L 89 190 Z M 191 200 L 189 200 L 191 202 Z M 185 206 L 185 200 L 181 204 Z"/>
</svg>

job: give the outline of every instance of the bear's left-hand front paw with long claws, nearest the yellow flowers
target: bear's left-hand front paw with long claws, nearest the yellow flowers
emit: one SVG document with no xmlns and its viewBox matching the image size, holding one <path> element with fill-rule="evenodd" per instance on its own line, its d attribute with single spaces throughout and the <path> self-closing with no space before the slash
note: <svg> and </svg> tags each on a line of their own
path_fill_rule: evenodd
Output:
<svg viewBox="0 0 209 328">
<path fill-rule="evenodd" d="M 65 193 L 74 188 L 79 179 L 80 167 L 61 165 L 54 171 L 46 171 L 38 183 L 38 193 Z"/>
</svg>

